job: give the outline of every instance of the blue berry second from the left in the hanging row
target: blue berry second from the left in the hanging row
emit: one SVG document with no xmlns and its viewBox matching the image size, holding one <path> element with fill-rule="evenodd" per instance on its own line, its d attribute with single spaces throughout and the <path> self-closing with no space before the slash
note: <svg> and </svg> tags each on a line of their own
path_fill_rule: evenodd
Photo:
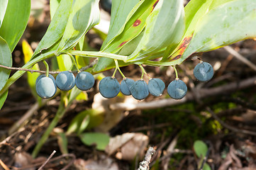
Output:
<svg viewBox="0 0 256 170">
<path fill-rule="evenodd" d="M 56 85 L 62 91 L 69 91 L 74 87 L 74 74 L 69 71 L 60 72 L 56 77 Z"/>
</svg>

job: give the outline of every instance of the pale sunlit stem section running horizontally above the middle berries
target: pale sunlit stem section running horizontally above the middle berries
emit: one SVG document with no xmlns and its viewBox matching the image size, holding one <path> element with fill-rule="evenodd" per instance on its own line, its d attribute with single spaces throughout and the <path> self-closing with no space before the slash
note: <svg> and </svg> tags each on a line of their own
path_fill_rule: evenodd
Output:
<svg viewBox="0 0 256 170">
<path fill-rule="evenodd" d="M 124 55 L 115 55 L 108 52 L 91 52 L 91 51 L 72 50 L 72 51 L 69 51 L 69 53 L 71 55 L 79 55 L 82 57 L 108 57 L 111 59 L 123 60 L 123 62 L 126 62 L 128 58 L 127 56 L 124 56 Z"/>
</svg>

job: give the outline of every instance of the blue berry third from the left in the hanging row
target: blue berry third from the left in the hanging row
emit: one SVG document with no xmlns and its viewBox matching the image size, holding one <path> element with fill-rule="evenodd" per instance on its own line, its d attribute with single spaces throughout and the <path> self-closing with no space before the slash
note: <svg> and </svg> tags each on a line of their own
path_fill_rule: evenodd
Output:
<svg viewBox="0 0 256 170">
<path fill-rule="evenodd" d="M 89 72 L 79 72 L 75 79 L 75 83 L 78 89 L 87 91 L 94 86 L 95 79 L 94 76 Z"/>
</svg>

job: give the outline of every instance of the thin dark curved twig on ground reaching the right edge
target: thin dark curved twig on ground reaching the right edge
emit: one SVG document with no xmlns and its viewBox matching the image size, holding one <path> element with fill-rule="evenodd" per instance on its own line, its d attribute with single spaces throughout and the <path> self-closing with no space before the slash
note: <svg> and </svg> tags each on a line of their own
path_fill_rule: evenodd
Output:
<svg viewBox="0 0 256 170">
<path fill-rule="evenodd" d="M 256 136 L 256 132 L 252 132 L 250 130 L 240 130 L 240 129 L 234 128 L 233 126 L 230 126 L 230 125 L 224 123 L 220 118 L 218 118 L 218 116 L 213 111 L 211 111 L 211 108 L 207 107 L 206 110 L 209 113 L 211 113 L 211 116 L 213 116 L 213 118 L 215 118 L 218 121 L 218 123 L 221 123 L 221 125 L 224 128 L 226 128 L 228 130 L 231 130 L 233 132 L 239 132 L 239 133 L 243 133 L 243 134 L 246 134 L 246 135 L 254 135 L 254 136 Z"/>
</svg>

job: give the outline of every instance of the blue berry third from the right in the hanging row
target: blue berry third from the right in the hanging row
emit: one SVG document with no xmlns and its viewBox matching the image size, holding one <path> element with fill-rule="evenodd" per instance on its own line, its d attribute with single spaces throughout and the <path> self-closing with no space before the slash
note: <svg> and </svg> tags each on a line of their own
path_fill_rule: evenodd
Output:
<svg viewBox="0 0 256 170">
<path fill-rule="evenodd" d="M 164 90 L 165 90 L 165 83 L 161 79 L 154 78 L 148 81 L 148 91 L 153 96 L 161 96 Z"/>
</svg>

